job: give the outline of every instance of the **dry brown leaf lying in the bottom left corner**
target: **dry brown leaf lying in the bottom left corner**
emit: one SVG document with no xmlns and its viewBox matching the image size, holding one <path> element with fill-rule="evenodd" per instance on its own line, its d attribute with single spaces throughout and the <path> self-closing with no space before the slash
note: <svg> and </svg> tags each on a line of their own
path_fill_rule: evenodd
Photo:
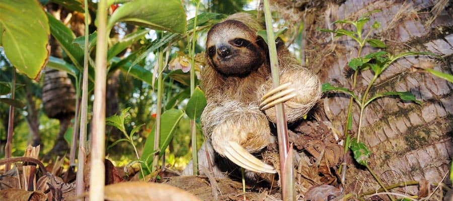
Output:
<svg viewBox="0 0 453 201">
<path fill-rule="evenodd" d="M 16 201 L 45 201 L 47 196 L 41 191 L 26 191 L 22 189 L 0 190 L 0 200 Z"/>
</svg>

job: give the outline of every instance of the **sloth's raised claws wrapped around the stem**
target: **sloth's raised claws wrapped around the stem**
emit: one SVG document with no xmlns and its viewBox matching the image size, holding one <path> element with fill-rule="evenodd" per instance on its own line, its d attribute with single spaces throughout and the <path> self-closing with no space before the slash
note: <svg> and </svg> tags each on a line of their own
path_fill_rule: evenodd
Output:
<svg viewBox="0 0 453 201">
<path fill-rule="evenodd" d="M 294 88 L 288 88 L 292 83 L 287 82 L 270 90 L 261 98 L 260 109 L 267 110 L 277 104 L 284 103 L 296 96 Z"/>
</svg>

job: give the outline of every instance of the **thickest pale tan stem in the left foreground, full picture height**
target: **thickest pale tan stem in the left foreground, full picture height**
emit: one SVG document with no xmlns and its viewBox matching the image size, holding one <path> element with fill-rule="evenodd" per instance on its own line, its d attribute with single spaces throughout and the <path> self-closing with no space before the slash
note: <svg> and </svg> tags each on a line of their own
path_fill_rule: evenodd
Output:
<svg viewBox="0 0 453 201">
<path fill-rule="evenodd" d="M 90 172 L 90 200 L 104 200 L 105 184 L 105 93 L 107 79 L 107 0 L 98 4 L 98 39 L 93 103 L 93 137 Z M 88 36 L 86 36 L 88 37 Z"/>
</svg>

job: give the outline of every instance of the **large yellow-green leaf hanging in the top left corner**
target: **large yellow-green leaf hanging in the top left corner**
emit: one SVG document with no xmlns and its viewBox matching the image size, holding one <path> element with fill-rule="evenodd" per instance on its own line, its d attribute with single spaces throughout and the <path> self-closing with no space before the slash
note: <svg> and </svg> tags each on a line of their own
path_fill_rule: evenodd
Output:
<svg viewBox="0 0 453 201">
<path fill-rule="evenodd" d="M 49 24 L 38 1 L 0 3 L 0 44 L 10 62 L 34 79 L 47 62 Z"/>
</svg>

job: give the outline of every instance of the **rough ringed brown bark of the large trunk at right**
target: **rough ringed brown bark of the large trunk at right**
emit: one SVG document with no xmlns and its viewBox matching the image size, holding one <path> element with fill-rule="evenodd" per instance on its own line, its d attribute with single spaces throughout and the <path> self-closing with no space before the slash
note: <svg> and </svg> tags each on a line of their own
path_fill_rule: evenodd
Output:
<svg viewBox="0 0 453 201">
<path fill-rule="evenodd" d="M 417 100 L 424 102 L 416 105 L 384 97 L 365 109 L 361 140 L 373 153 L 370 166 L 387 184 L 420 179 L 441 182 L 448 173 L 453 156 L 453 84 L 431 74 L 410 72 L 411 65 L 430 61 L 435 64 L 435 70 L 453 74 L 452 3 L 440 7 L 436 15 L 439 10 L 437 7 L 442 6 L 435 5 L 436 2 L 346 1 L 328 9 L 314 9 L 307 14 L 306 56 L 309 66 L 318 72 L 322 82 L 351 88 L 351 73 L 347 72 L 347 63 L 357 57 L 358 48 L 356 42 L 346 36 L 332 41 L 330 34 L 316 29 L 328 28 L 327 25 L 336 20 L 357 19 L 375 9 L 381 9 L 382 12 L 371 15 L 363 33 L 368 32 L 374 21 L 381 22 L 382 27 L 374 31 L 371 37 L 385 41 L 389 46 L 386 51 L 393 54 L 429 51 L 444 58 L 434 60 L 427 56 L 409 56 L 399 59 L 383 72 L 370 91 L 370 94 L 378 91 L 411 91 Z M 319 15 L 319 12 L 324 13 Z M 331 15 L 326 18 L 328 13 Z M 349 26 L 344 28 L 351 29 Z M 375 51 L 378 50 L 365 46 L 362 56 Z M 363 71 L 358 76 L 355 93 L 362 94 L 372 77 L 370 70 Z M 340 131 L 345 124 L 348 102 L 349 97 L 339 93 L 329 93 L 323 100 L 328 120 Z M 353 108 L 352 114 L 355 134 L 358 107 Z M 351 166 L 347 175 L 346 187 L 349 191 L 366 191 L 378 187 L 366 169 Z M 444 182 L 449 183 L 448 179 Z M 418 191 L 416 186 L 407 187 L 407 190 L 410 193 Z"/>
</svg>

